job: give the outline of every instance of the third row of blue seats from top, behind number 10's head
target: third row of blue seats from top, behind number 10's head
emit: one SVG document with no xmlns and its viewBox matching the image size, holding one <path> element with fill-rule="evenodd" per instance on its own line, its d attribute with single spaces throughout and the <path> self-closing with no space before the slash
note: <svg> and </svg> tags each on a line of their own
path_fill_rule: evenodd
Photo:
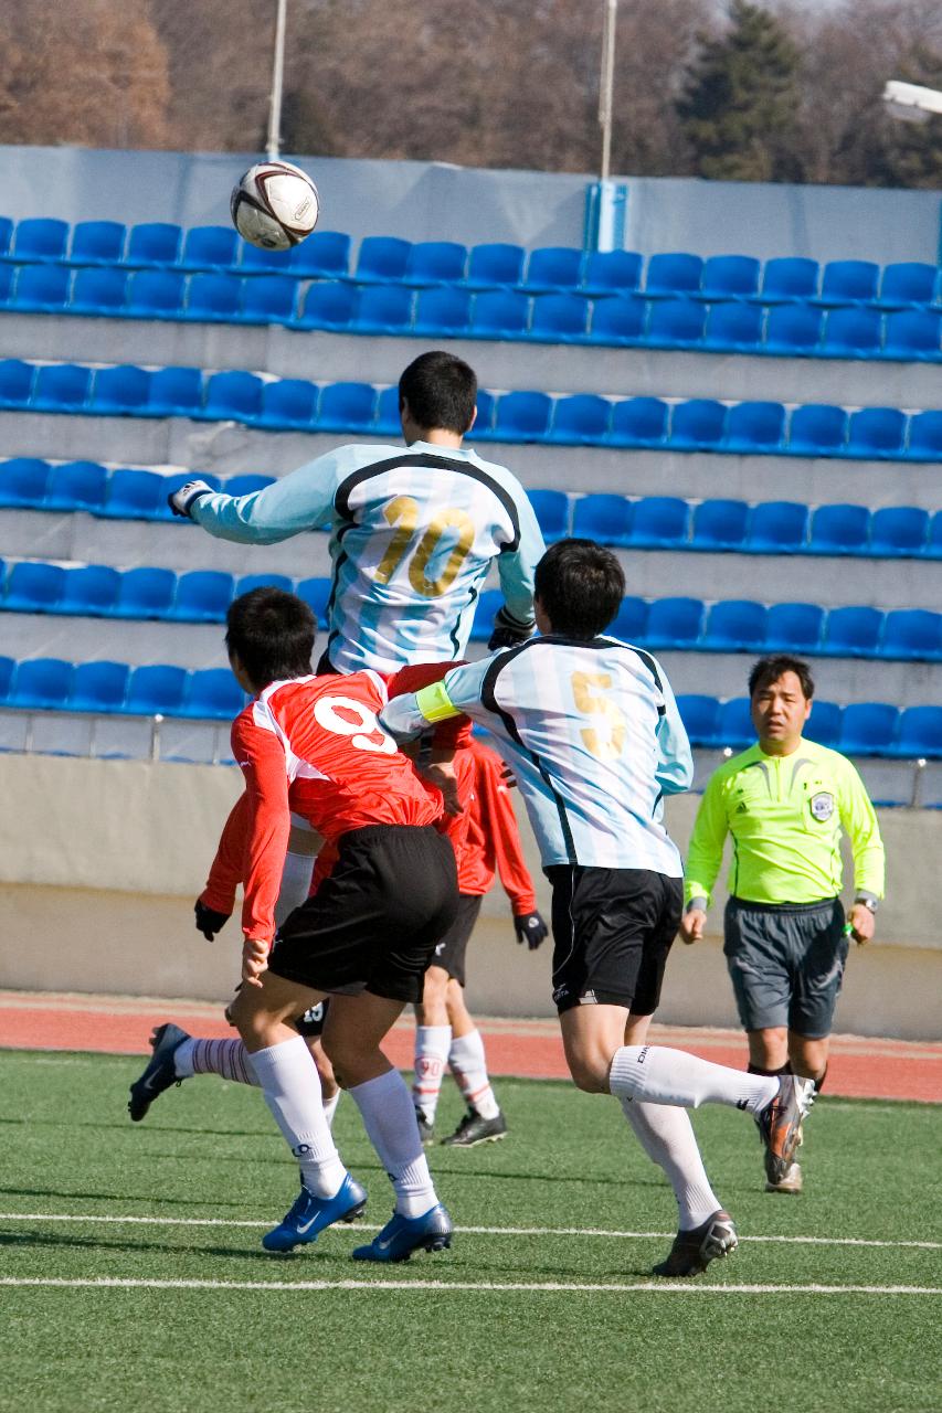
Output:
<svg viewBox="0 0 942 1413">
<path fill-rule="evenodd" d="M 0 362 L 0 410 L 192 417 L 273 431 L 400 435 L 395 386 L 266 380 L 255 373 L 204 374 L 194 367 Z M 942 461 L 942 411 L 895 407 L 847 411 L 809 403 L 735 403 L 658 397 L 612 401 L 594 393 L 478 391 L 478 441 L 556 442 L 666 451 Z"/>
</svg>

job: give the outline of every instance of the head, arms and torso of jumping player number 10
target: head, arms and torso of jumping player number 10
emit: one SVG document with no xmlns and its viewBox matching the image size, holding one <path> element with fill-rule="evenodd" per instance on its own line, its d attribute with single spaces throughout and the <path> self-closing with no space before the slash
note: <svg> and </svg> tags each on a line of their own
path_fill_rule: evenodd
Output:
<svg viewBox="0 0 942 1413">
<path fill-rule="evenodd" d="M 395 671 L 464 657 L 494 560 L 505 603 L 491 643 L 521 642 L 533 632 L 543 537 L 518 479 L 461 447 L 475 398 L 467 363 L 423 353 L 399 382 L 406 448 L 339 447 L 248 496 L 192 480 L 170 504 L 242 544 L 330 526 L 334 572 L 318 671 Z"/>
</svg>

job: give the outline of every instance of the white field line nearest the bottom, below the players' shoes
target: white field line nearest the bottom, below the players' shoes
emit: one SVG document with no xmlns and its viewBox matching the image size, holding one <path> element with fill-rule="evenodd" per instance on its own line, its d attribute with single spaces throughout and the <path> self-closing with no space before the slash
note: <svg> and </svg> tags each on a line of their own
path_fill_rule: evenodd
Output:
<svg viewBox="0 0 942 1413">
<path fill-rule="evenodd" d="M 0 1286 L 52 1286 L 79 1290 L 492 1290 L 562 1291 L 569 1294 L 627 1294 L 656 1291 L 672 1296 L 942 1296 L 932 1286 L 703 1286 L 679 1282 L 564 1282 L 564 1280 L 144 1280 L 119 1276 L 0 1276 Z"/>
</svg>

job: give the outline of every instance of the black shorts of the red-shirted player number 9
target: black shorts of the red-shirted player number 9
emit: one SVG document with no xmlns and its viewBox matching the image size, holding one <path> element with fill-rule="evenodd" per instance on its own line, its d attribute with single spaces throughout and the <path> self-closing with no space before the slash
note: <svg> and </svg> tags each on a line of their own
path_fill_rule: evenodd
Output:
<svg viewBox="0 0 942 1413">
<path fill-rule="evenodd" d="M 269 971 L 338 996 L 421 1000 L 457 907 L 454 849 L 431 825 L 352 829 L 330 876 L 279 928 Z"/>
</svg>

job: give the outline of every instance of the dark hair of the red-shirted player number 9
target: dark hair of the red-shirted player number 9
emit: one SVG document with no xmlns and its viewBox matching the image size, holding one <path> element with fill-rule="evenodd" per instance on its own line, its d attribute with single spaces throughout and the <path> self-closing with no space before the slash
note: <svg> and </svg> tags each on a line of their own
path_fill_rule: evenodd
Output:
<svg viewBox="0 0 942 1413">
<path fill-rule="evenodd" d="M 317 622 L 304 599 L 284 589 L 250 589 L 229 605 L 226 650 L 262 691 L 269 682 L 307 677 Z"/>
</svg>

